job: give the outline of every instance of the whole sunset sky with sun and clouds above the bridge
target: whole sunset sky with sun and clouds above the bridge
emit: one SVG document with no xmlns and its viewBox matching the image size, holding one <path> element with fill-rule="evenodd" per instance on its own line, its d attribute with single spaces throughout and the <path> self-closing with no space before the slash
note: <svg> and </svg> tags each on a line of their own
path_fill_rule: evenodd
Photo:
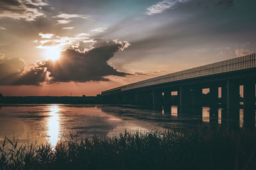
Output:
<svg viewBox="0 0 256 170">
<path fill-rule="evenodd" d="M 0 93 L 95 96 L 256 52 L 255 0 L 0 0 Z"/>
</svg>

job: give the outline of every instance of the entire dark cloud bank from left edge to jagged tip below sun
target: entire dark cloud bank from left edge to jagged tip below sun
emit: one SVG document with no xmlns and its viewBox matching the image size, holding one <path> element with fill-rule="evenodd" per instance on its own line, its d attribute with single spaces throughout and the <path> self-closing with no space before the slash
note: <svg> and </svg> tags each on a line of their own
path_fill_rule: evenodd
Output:
<svg viewBox="0 0 256 170">
<path fill-rule="evenodd" d="M 68 49 L 56 61 L 26 66 L 21 59 L 0 61 L 0 85 L 40 85 L 47 82 L 109 81 L 105 76 L 126 76 L 108 64 L 116 52 L 129 46 L 127 41 L 95 39 L 86 52 Z"/>
</svg>

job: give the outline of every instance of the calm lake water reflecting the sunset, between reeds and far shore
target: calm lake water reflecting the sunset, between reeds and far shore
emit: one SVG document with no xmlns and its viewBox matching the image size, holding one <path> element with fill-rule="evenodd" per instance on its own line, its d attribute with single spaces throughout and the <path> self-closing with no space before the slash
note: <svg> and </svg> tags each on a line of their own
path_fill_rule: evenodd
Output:
<svg viewBox="0 0 256 170">
<path fill-rule="evenodd" d="M 255 111 L 253 112 L 255 119 Z M 255 121 L 252 121 L 255 127 Z M 178 106 L 164 106 L 148 110 L 132 105 L 108 104 L 5 104 L 0 105 L 0 142 L 4 137 L 21 143 L 56 145 L 61 138 L 77 134 L 99 138 L 120 133 L 166 131 L 174 128 L 205 126 L 242 128 L 244 110 L 228 113 L 222 108 L 200 107 L 181 110 Z"/>
</svg>

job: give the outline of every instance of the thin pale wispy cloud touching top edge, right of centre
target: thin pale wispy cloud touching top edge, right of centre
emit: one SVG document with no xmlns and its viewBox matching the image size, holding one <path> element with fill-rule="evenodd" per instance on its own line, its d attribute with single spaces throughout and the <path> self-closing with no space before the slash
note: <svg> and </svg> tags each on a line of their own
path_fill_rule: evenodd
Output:
<svg viewBox="0 0 256 170">
<path fill-rule="evenodd" d="M 154 15 L 156 13 L 162 13 L 164 10 L 168 10 L 170 8 L 174 8 L 177 4 L 185 3 L 189 0 L 168 0 L 168 1 L 161 1 L 157 4 L 154 4 L 147 8 L 147 15 Z"/>
</svg>

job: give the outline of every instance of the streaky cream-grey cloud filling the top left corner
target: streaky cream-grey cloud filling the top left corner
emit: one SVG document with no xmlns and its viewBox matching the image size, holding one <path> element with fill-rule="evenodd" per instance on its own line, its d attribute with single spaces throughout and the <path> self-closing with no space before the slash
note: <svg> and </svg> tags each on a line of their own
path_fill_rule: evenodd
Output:
<svg viewBox="0 0 256 170">
<path fill-rule="evenodd" d="M 36 20 L 38 17 L 45 16 L 41 6 L 45 6 L 42 0 L 1 0 L 0 18 L 24 19 L 26 21 Z"/>
</svg>

